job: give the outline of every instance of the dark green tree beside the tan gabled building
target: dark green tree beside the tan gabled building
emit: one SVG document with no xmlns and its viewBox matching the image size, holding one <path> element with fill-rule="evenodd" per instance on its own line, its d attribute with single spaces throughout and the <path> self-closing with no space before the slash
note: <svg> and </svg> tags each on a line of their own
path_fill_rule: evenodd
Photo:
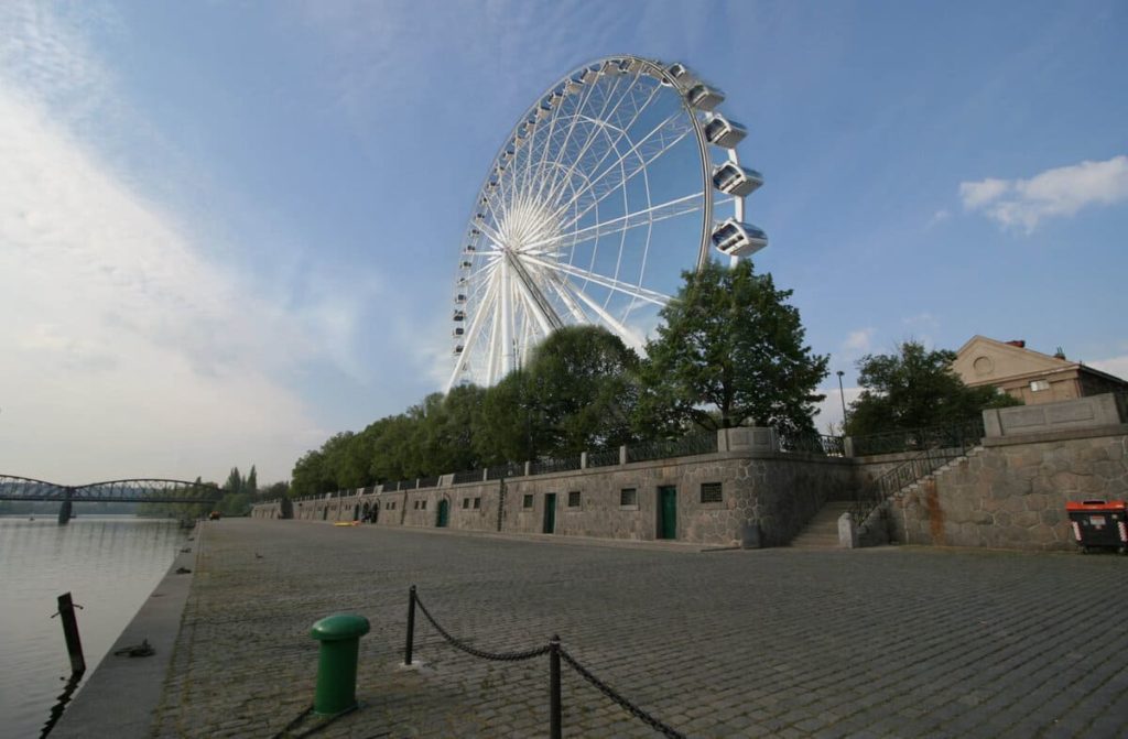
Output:
<svg viewBox="0 0 1128 739">
<path fill-rule="evenodd" d="M 955 352 L 928 350 L 916 341 L 896 354 L 867 354 L 857 362 L 862 395 L 851 403 L 848 436 L 905 431 L 975 420 L 987 407 L 1021 405 L 994 387 L 968 387 L 952 370 Z"/>
</svg>

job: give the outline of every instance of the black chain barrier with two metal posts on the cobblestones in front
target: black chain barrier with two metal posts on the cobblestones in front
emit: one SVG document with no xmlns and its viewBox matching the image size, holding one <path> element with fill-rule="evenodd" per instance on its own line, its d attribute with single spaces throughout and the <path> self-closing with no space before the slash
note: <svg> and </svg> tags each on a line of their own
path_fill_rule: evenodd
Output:
<svg viewBox="0 0 1128 739">
<path fill-rule="evenodd" d="M 611 700 L 620 709 L 627 711 L 631 715 L 635 716 L 646 725 L 649 725 L 654 731 L 669 737 L 670 739 L 685 739 L 685 734 L 677 729 L 670 727 L 662 721 L 659 721 L 651 714 L 646 713 L 637 705 L 625 698 L 618 690 L 603 683 L 601 679 L 596 677 L 588 668 L 581 665 L 574 657 L 572 657 L 564 645 L 561 644 L 561 637 L 553 635 L 547 644 L 543 646 L 534 646 L 531 649 L 523 649 L 514 652 L 487 652 L 482 649 L 476 649 L 470 646 L 465 641 L 452 636 L 450 632 L 439 625 L 439 622 L 434 619 L 434 616 L 426 609 L 423 601 L 420 600 L 418 592 L 415 586 L 411 587 L 408 591 L 407 601 L 407 640 L 404 645 L 404 665 L 409 666 L 414 659 L 415 651 L 415 609 L 418 608 L 430 622 L 431 626 L 434 627 L 439 635 L 442 636 L 443 641 L 453 646 L 455 649 L 469 654 L 470 657 L 477 657 L 478 659 L 491 660 L 496 662 L 522 662 L 525 660 L 536 659 L 548 654 L 548 736 L 552 739 L 561 739 L 563 737 L 563 710 L 562 710 L 562 696 L 561 696 L 561 663 L 564 662 L 584 680 L 590 683 L 597 690 L 602 693 L 605 696 Z"/>
</svg>

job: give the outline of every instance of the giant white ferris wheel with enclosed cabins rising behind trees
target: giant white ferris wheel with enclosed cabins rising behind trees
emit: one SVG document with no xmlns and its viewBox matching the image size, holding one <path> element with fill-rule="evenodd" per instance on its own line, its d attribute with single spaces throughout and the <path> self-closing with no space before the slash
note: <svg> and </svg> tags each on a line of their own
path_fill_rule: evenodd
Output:
<svg viewBox="0 0 1128 739">
<path fill-rule="evenodd" d="M 641 347 L 684 270 L 767 245 L 744 222 L 763 184 L 724 94 L 685 64 L 615 56 L 553 85 L 490 166 L 459 249 L 453 370 L 493 385 L 572 324 Z"/>
</svg>

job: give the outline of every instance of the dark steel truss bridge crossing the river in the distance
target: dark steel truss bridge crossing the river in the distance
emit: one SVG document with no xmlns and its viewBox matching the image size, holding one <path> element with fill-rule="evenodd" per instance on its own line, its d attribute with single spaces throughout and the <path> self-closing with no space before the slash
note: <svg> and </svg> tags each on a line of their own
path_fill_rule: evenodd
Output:
<svg viewBox="0 0 1128 739">
<path fill-rule="evenodd" d="M 0 500 L 56 501 L 59 522 L 71 519 L 74 503 L 215 503 L 228 491 L 212 483 L 183 480 L 112 480 L 89 485 L 55 483 L 0 475 Z"/>
</svg>

